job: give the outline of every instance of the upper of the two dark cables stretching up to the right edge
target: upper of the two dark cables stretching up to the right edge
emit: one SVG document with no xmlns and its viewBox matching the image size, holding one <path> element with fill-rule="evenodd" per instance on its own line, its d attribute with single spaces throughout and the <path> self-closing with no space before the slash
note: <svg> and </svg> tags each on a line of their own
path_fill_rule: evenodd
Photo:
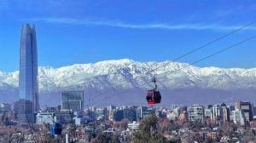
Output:
<svg viewBox="0 0 256 143">
<path fill-rule="evenodd" d="M 154 72 L 155 70 L 159 69 L 159 68 L 162 67 L 162 66 L 167 66 L 168 64 L 170 64 L 170 63 L 172 63 L 172 62 L 174 62 L 174 61 L 180 60 L 180 59 L 182 59 L 183 57 L 185 57 L 185 56 L 187 56 L 187 55 L 189 55 L 189 54 L 193 54 L 193 53 L 195 53 L 196 51 L 198 51 L 198 50 L 200 50 L 200 49 L 204 49 L 204 48 L 206 48 L 207 46 L 211 45 L 212 43 L 216 43 L 216 42 L 218 42 L 219 40 L 223 39 L 224 37 L 228 37 L 228 36 L 230 36 L 230 35 L 236 33 L 237 31 L 241 31 L 242 29 L 246 28 L 247 26 L 251 26 L 251 25 L 253 25 L 253 24 L 255 24 L 255 23 L 256 23 L 256 20 L 254 20 L 253 22 L 248 23 L 248 24 L 245 25 L 245 26 L 241 26 L 240 28 L 238 28 L 238 29 L 236 29 L 236 30 L 234 30 L 234 31 L 230 31 L 229 33 L 224 34 L 223 36 L 218 37 L 218 38 L 212 40 L 212 41 L 209 42 L 209 43 L 206 43 L 206 44 L 204 44 L 204 45 L 202 45 L 202 46 L 200 46 L 200 47 L 198 47 L 198 48 L 196 48 L 196 49 L 190 50 L 190 51 L 189 51 L 188 53 L 186 53 L 186 54 L 182 54 L 181 56 L 178 56 L 178 57 L 175 58 L 174 60 L 171 60 L 171 62 L 168 62 L 168 63 L 166 63 L 166 64 L 164 64 L 164 65 L 161 65 L 161 66 L 157 66 L 156 68 L 154 68 L 154 69 L 152 69 L 152 70 L 150 70 L 150 71 L 148 71 L 148 72 L 143 73 L 143 74 L 140 75 L 139 77 L 143 77 L 144 75 L 146 75 L 146 74 L 148 74 L 148 73 L 150 73 L 150 72 Z M 120 69 L 117 70 L 117 71 L 120 71 L 121 69 L 122 69 L 122 68 L 120 68 Z M 133 80 L 136 80 L 136 79 L 139 78 L 139 77 L 135 77 Z M 129 82 L 122 83 L 122 85 L 127 84 L 127 83 L 129 83 Z M 115 89 L 118 89 L 118 87 L 121 87 L 122 85 L 117 85 L 117 88 L 115 88 Z M 96 100 L 98 97 L 101 97 L 101 96 L 104 95 L 104 94 L 108 94 L 110 91 L 113 91 L 113 90 L 114 90 L 114 88 L 109 89 L 109 90 L 107 90 L 107 91 L 105 91 L 105 92 L 102 92 L 102 93 L 100 93 L 100 94 L 96 94 L 96 97 L 92 98 L 92 100 Z"/>
</svg>

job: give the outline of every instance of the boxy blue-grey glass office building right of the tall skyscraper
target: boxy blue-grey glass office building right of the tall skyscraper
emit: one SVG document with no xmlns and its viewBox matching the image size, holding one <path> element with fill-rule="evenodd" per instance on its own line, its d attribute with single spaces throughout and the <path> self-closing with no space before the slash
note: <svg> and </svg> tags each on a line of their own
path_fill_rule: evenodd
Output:
<svg viewBox="0 0 256 143">
<path fill-rule="evenodd" d="M 84 110 L 84 91 L 64 91 L 61 93 L 61 109 Z"/>
</svg>

